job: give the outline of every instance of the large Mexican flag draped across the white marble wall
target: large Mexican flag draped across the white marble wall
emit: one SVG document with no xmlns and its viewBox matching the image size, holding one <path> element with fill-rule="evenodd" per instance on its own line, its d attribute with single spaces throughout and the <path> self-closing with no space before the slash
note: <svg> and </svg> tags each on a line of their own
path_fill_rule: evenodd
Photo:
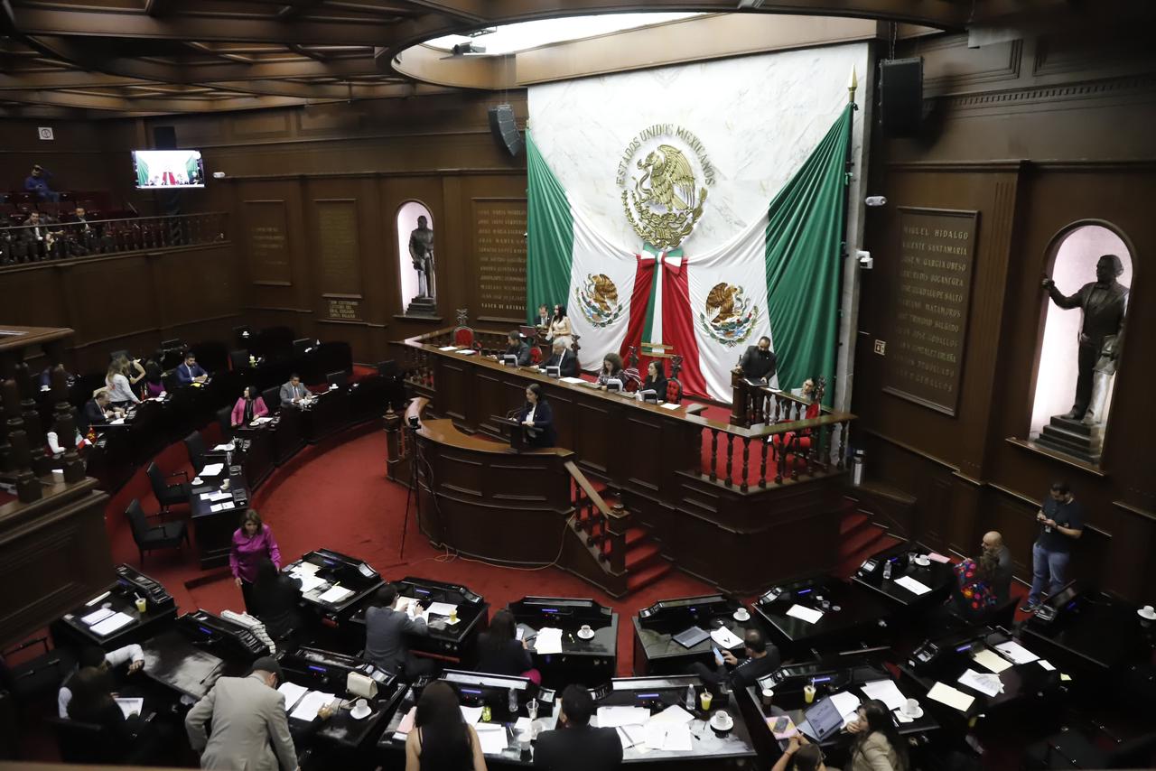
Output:
<svg viewBox="0 0 1156 771">
<path fill-rule="evenodd" d="M 527 131 L 527 319 L 543 303 L 565 305 L 584 370 L 600 369 L 608 351 L 661 343 L 683 357 L 686 393 L 724 402 L 731 370 L 764 335 L 778 357 L 778 387 L 818 376 L 832 384 L 852 110 L 844 108 L 764 216 L 704 252 L 692 232 L 676 249 L 612 243 Z"/>
</svg>

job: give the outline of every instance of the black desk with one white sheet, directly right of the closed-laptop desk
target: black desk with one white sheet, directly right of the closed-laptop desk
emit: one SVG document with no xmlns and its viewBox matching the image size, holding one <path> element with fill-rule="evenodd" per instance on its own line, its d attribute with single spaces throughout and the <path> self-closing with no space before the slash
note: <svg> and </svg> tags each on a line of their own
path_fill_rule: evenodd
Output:
<svg viewBox="0 0 1156 771">
<path fill-rule="evenodd" d="M 817 621 L 790 615 L 821 613 Z M 818 574 L 772 586 L 751 606 L 785 658 L 847 651 L 884 638 L 892 609 L 874 592 L 833 576 Z"/>
</svg>

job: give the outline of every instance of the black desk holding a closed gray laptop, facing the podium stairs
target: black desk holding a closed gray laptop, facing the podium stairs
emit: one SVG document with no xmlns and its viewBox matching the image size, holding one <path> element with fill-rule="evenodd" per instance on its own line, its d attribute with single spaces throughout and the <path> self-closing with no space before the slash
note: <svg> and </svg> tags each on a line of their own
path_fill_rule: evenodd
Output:
<svg viewBox="0 0 1156 771">
<path fill-rule="evenodd" d="M 746 606 L 722 594 L 659 600 L 649 608 L 643 608 L 633 617 L 635 674 L 681 675 L 696 661 L 713 669 L 714 654 L 711 648 L 721 650 L 718 643 L 707 637 L 691 647 L 686 647 L 674 637 L 691 627 L 698 627 L 705 632 L 725 627 L 740 639 L 748 629 L 757 629 L 765 633 L 762 624 L 749 610 L 747 610 L 750 614 L 749 618 L 736 620 L 734 614 L 740 608 L 746 609 Z M 742 645 L 735 645 L 731 652 L 741 658 Z"/>
</svg>

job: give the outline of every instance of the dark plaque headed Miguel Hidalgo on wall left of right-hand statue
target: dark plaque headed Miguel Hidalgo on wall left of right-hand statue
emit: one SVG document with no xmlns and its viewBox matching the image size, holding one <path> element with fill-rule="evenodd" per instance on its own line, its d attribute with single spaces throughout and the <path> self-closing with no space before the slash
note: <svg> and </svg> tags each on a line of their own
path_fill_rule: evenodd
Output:
<svg viewBox="0 0 1156 771">
<path fill-rule="evenodd" d="M 948 415 L 959 403 L 977 217 L 899 207 L 898 296 L 883 391 Z"/>
</svg>

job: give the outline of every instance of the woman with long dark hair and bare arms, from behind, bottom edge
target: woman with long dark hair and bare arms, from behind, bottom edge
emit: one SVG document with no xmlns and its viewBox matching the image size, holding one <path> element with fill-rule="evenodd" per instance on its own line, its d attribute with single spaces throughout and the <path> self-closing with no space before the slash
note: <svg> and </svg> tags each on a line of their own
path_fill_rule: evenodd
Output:
<svg viewBox="0 0 1156 771">
<path fill-rule="evenodd" d="M 449 683 L 430 683 L 417 699 L 414 729 L 406 736 L 406 771 L 486 771 L 482 742 Z"/>
</svg>

